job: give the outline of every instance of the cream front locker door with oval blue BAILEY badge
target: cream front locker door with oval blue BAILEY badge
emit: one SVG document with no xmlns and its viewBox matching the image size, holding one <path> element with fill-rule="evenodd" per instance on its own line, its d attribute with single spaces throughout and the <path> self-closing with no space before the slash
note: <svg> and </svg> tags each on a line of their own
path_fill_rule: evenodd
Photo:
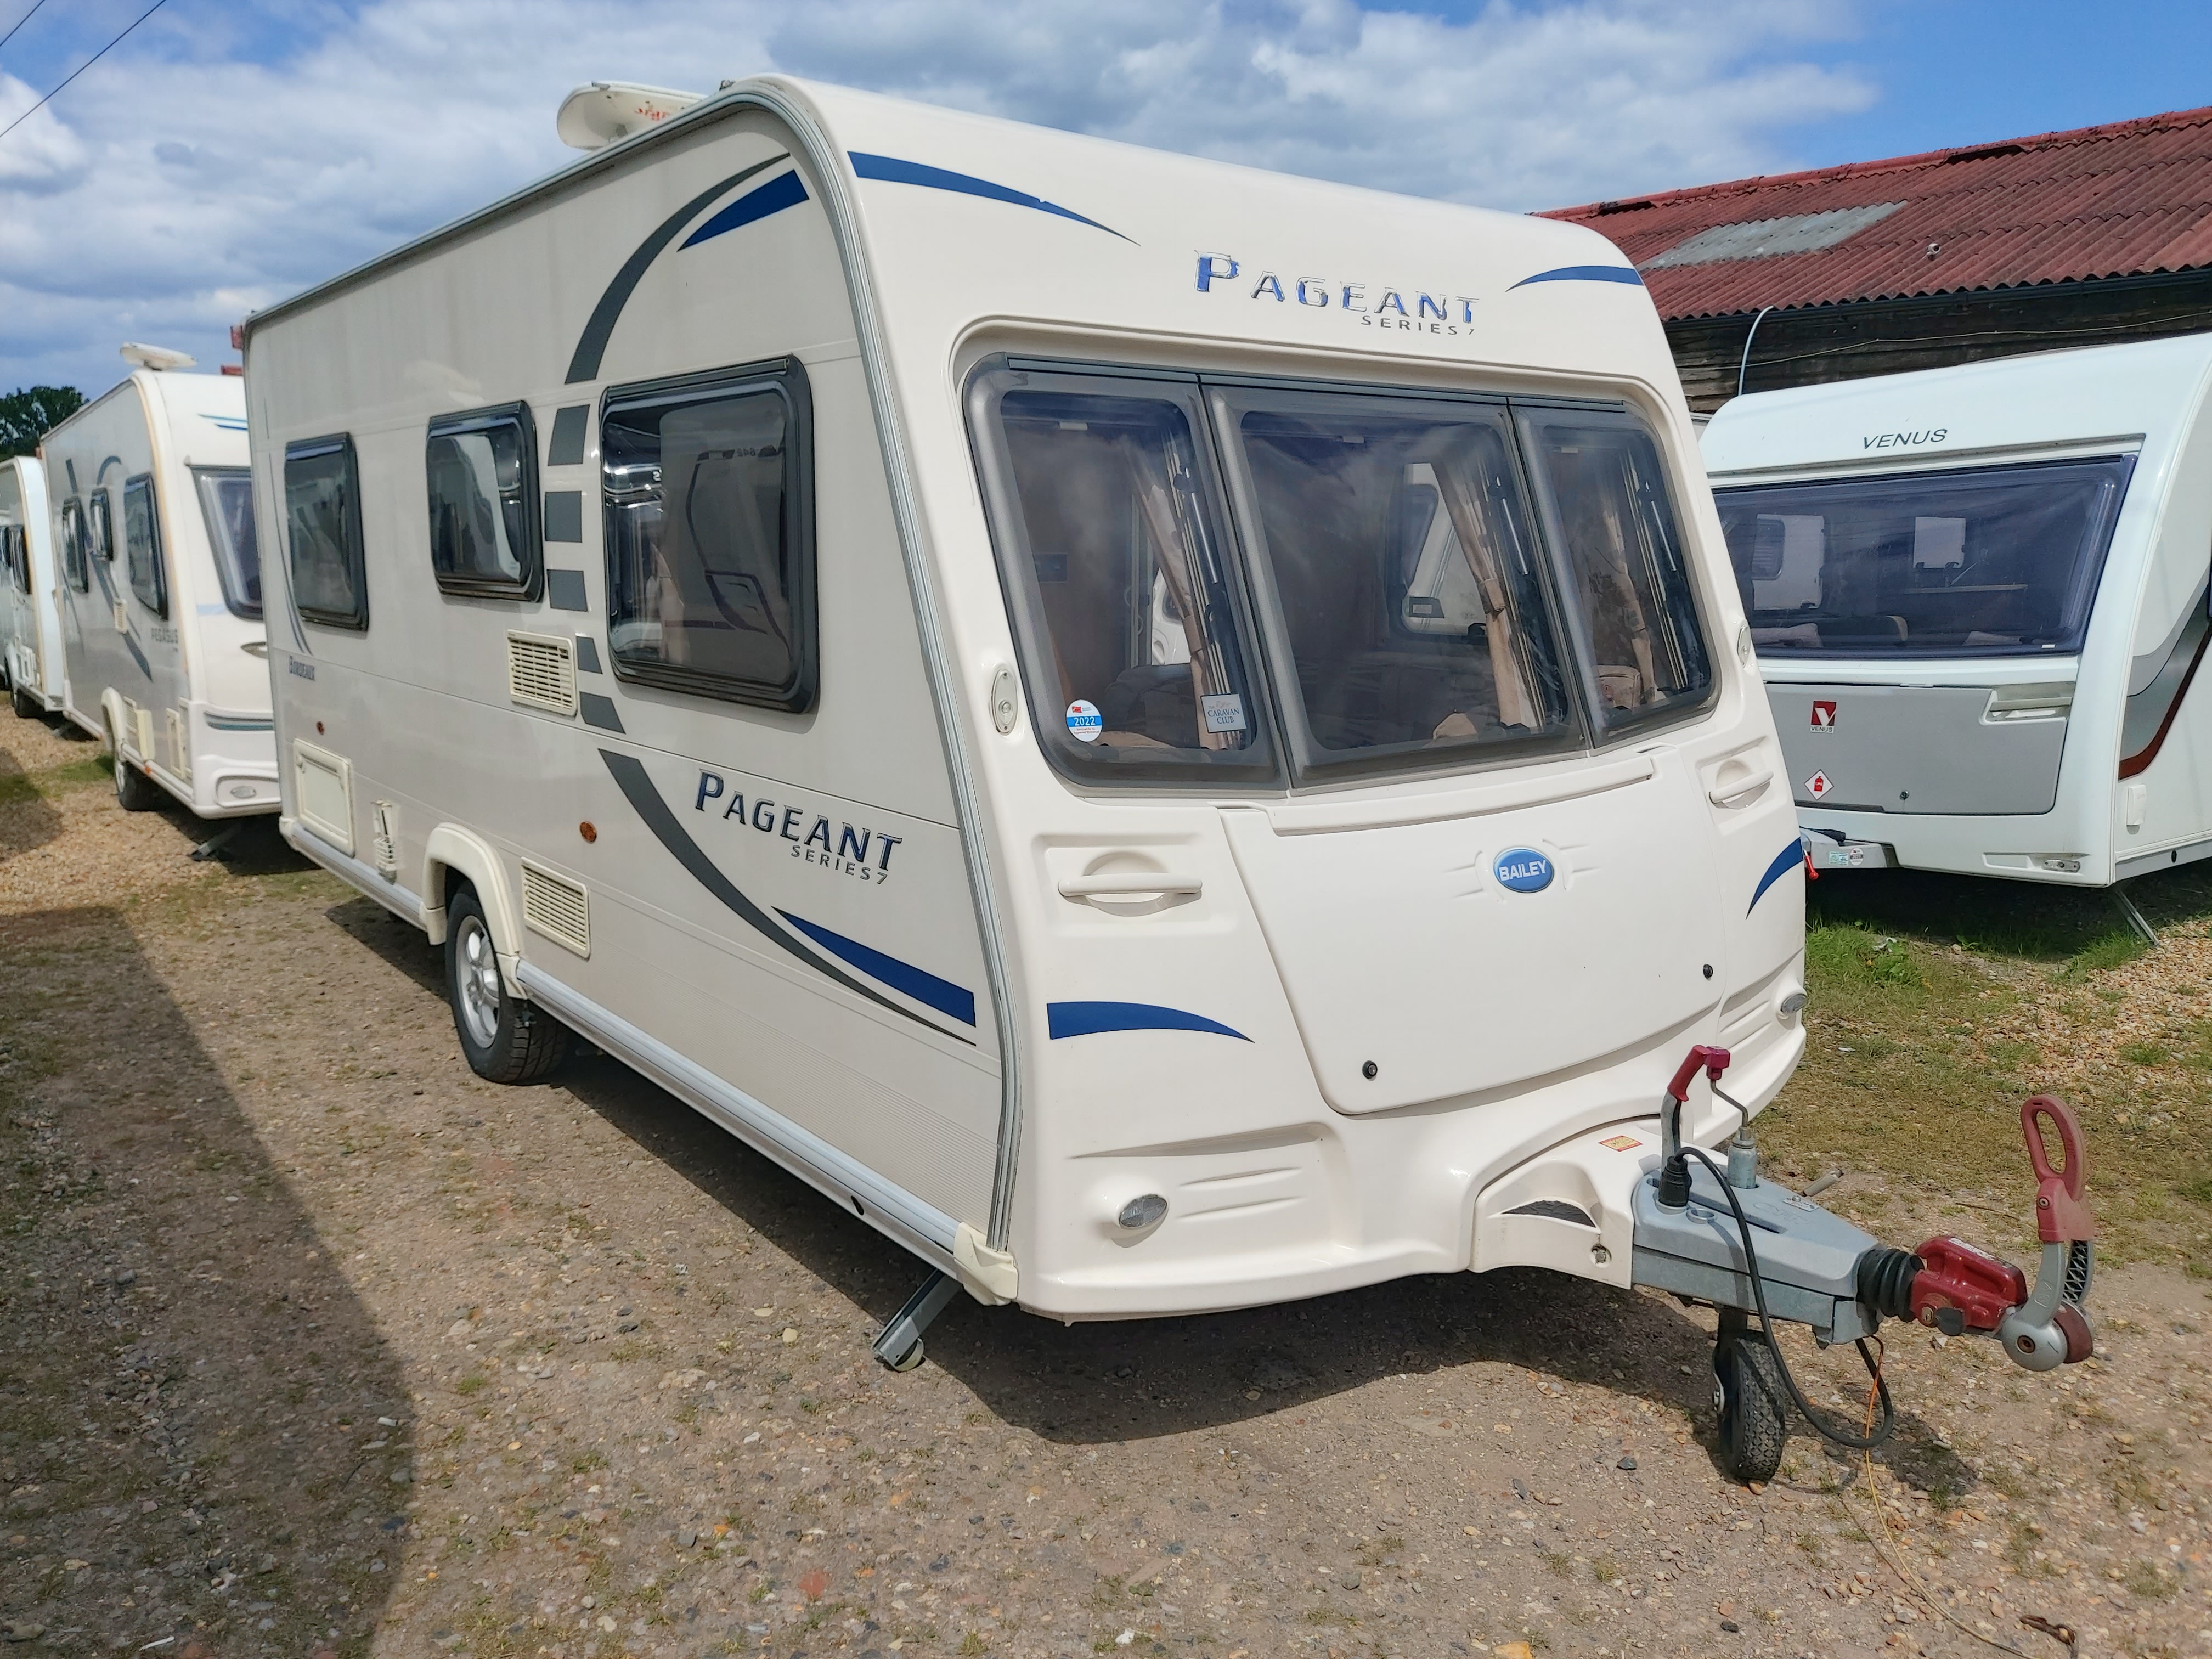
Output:
<svg viewBox="0 0 2212 1659">
<path fill-rule="evenodd" d="M 1677 752 L 1464 799 L 1422 823 L 1405 796 L 1223 812 L 1340 1113 L 1626 1055 L 1710 1018 L 1728 984 L 1717 830 Z M 1376 823 L 1387 810 L 1398 823 Z"/>
</svg>

